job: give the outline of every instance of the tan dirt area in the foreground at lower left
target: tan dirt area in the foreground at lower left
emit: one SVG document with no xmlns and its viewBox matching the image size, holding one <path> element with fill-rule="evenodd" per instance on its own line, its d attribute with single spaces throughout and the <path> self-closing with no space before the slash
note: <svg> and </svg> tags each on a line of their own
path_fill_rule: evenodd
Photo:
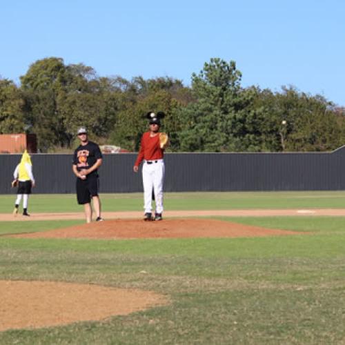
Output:
<svg viewBox="0 0 345 345">
<path fill-rule="evenodd" d="M 63 282 L 0 281 L 0 331 L 60 326 L 168 304 L 144 290 Z"/>
</svg>

